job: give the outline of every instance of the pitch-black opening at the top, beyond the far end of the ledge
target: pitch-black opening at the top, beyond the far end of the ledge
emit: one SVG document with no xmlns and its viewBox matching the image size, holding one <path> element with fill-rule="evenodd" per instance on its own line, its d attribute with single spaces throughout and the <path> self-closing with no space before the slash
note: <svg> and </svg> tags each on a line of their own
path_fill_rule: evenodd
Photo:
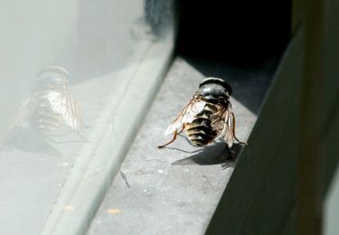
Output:
<svg viewBox="0 0 339 235">
<path fill-rule="evenodd" d="M 176 53 L 252 69 L 280 58 L 291 38 L 291 1 L 177 0 Z"/>
</svg>

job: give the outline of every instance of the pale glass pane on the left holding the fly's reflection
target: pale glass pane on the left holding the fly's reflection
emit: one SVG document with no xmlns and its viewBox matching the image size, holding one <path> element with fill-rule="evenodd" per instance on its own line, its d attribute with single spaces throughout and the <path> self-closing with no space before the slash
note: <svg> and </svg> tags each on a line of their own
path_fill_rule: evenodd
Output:
<svg viewBox="0 0 339 235">
<path fill-rule="evenodd" d="M 128 115 L 114 110 L 131 80 L 155 61 L 165 66 L 173 5 L 15 0 L 0 6 L 0 233 L 35 234 L 77 159 L 99 142 L 99 129 L 113 133 L 115 117 Z M 71 206 L 64 208 L 77 210 Z"/>
</svg>

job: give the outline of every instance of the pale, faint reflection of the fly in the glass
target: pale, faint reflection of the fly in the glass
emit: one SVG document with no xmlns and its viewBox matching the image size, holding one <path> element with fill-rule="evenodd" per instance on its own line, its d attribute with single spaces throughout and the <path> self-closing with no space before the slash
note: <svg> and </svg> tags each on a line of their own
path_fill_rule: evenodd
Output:
<svg viewBox="0 0 339 235">
<path fill-rule="evenodd" d="M 61 130 L 67 129 L 79 133 L 79 104 L 71 97 L 65 69 L 50 66 L 40 72 L 12 126 L 32 128 L 46 136 L 61 135 Z"/>
</svg>

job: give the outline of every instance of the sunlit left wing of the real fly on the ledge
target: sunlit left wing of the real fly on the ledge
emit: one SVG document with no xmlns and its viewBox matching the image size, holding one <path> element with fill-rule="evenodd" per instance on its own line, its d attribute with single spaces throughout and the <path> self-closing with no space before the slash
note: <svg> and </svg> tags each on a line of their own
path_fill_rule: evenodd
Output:
<svg viewBox="0 0 339 235">
<path fill-rule="evenodd" d="M 191 99 L 184 109 L 180 112 L 174 122 L 165 130 L 165 136 L 174 133 L 175 130 L 180 129 L 186 123 L 192 123 L 194 117 L 202 111 L 206 102 L 199 99 Z"/>
</svg>

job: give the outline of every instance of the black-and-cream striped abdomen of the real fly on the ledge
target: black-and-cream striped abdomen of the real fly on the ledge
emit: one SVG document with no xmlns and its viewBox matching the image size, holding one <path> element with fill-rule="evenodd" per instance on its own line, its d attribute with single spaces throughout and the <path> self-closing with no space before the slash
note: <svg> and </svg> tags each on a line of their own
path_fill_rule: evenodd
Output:
<svg viewBox="0 0 339 235">
<path fill-rule="evenodd" d="M 211 116 L 216 111 L 215 105 L 207 103 L 193 122 L 186 125 L 186 135 L 193 146 L 206 146 L 217 136 L 211 123 Z"/>
</svg>

